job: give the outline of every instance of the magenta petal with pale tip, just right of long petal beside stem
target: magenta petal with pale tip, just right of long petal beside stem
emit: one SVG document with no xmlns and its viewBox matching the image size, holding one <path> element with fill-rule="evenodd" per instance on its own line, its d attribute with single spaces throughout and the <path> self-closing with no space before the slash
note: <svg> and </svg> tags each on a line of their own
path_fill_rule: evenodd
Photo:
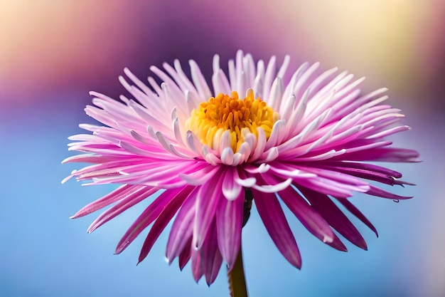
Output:
<svg viewBox="0 0 445 297">
<path fill-rule="evenodd" d="M 331 226 L 294 189 L 291 187 L 284 189 L 279 192 L 279 197 L 313 235 L 325 243 L 333 241 L 334 233 Z"/>
</svg>

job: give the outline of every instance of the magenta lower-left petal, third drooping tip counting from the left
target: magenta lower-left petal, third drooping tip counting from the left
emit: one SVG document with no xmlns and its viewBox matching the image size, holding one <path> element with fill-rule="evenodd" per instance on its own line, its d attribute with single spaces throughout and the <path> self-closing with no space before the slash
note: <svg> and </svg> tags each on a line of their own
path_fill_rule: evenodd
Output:
<svg viewBox="0 0 445 297">
<path fill-rule="evenodd" d="M 166 189 L 158 198 L 151 202 L 151 204 L 141 213 L 141 215 L 134 221 L 132 226 L 125 232 L 122 239 L 119 241 L 116 247 L 115 254 L 121 253 L 124 249 L 132 243 L 132 241 L 138 236 L 142 230 L 144 230 L 149 224 L 151 224 L 159 214 L 163 211 L 166 205 L 181 192 L 181 188 L 178 189 Z"/>
</svg>

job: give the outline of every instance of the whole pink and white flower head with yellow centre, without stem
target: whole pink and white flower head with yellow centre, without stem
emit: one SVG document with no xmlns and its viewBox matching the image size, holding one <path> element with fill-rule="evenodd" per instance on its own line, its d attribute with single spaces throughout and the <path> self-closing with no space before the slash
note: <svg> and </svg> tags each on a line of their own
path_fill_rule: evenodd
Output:
<svg viewBox="0 0 445 297">
<path fill-rule="evenodd" d="M 377 234 L 374 226 L 347 199 L 362 192 L 407 199 L 376 187 L 408 184 L 402 174 L 365 161 L 413 162 L 414 150 L 390 147 L 388 135 L 409 130 L 395 108 L 381 103 L 385 88 L 362 95 L 364 78 L 331 69 L 316 74 L 318 63 L 303 64 L 287 76 L 289 56 L 279 70 L 276 58 L 255 66 L 238 51 L 229 61 L 228 78 L 213 59 L 212 87 L 194 61 L 191 80 L 179 61 L 150 69 L 151 88 L 128 69 L 120 82 L 134 97 L 119 102 L 100 93 L 85 108 L 105 126 L 80 125 L 92 134 L 70 137 L 70 150 L 83 152 L 63 162 L 93 165 L 70 177 L 89 184 L 122 184 L 80 209 L 73 218 L 105 210 L 88 228 L 92 232 L 144 199 L 151 204 L 117 244 L 119 254 L 151 229 L 139 261 L 149 254 L 173 217 L 166 246 L 171 264 L 191 261 L 195 281 L 213 283 L 223 261 L 232 268 L 241 245 L 245 203 L 253 199 L 274 244 L 297 268 L 301 256 L 279 199 L 314 236 L 346 251 L 333 229 L 367 249 L 359 231 L 337 204 Z M 65 180 L 66 180 L 65 179 Z M 371 184 L 370 182 L 374 182 Z M 155 195 L 155 194 L 159 195 Z M 246 199 L 251 197 L 251 199 Z M 249 201 L 250 200 L 250 201 Z M 249 211 L 247 209 L 247 211 Z"/>
</svg>

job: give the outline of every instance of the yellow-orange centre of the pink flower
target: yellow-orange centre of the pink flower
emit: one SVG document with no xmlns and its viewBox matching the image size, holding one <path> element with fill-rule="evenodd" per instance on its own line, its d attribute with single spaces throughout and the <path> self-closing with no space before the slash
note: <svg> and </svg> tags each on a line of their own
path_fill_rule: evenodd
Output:
<svg viewBox="0 0 445 297">
<path fill-rule="evenodd" d="M 278 113 L 261 100 L 254 98 L 252 89 L 247 90 L 246 98 L 240 99 L 237 92 L 232 95 L 220 93 L 192 110 L 186 127 L 195 133 L 201 143 L 215 149 L 219 141 L 215 135 L 230 131 L 233 152 L 237 152 L 245 141 L 243 135 L 251 132 L 258 137 L 257 127 L 262 127 L 269 139 Z M 247 130 L 246 130 L 247 129 Z"/>
</svg>

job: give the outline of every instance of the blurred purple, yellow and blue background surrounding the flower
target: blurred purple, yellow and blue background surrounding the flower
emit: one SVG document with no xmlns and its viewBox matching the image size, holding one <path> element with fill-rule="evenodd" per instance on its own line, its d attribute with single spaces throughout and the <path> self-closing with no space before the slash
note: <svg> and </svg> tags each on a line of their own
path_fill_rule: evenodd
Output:
<svg viewBox="0 0 445 297">
<path fill-rule="evenodd" d="M 179 58 L 187 68 L 193 58 L 210 78 L 213 54 L 227 65 L 239 48 L 365 75 L 364 91 L 389 88 L 413 127 L 392 140 L 423 160 L 389 166 L 417 184 L 395 189 L 414 199 L 353 198 L 380 234 L 357 222 L 368 251 L 333 250 L 289 215 L 301 271 L 252 209 L 243 231 L 250 295 L 445 296 L 445 2 L 260 2 L 0 0 L 0 296 L 228 296 L 224 267 L 208 288 L 190 266 L 166 264 L 168 232 L 139 266 L 144 236 L 114 256 L 148 202 L 87 234 L 95 214 L 68 217 L 113 187 L 61 185 L 79 165 L 60 161 L 73 155 L 77 125 L 94 123 L 82 110 L 88 91 L 118 98 L 124 67 L 146 78 L 151 65 Z"/>
</svg>

